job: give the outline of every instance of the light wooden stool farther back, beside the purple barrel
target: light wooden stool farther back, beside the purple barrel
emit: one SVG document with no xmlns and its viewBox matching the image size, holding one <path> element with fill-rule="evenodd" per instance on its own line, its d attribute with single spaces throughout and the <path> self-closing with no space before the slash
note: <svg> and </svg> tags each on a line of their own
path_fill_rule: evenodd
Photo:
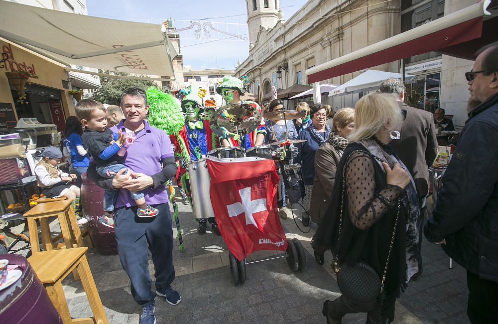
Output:
<svg viewBox="0 0 498 324">
<path fill-rule="evenodd" d="M 59 219 L 61 236 L 64 243 L 54 244 L 54 242 L 60 239 L 60 236 L 52 238 L 50 235 L 48 217 L 52 216 L 57 216 Z M 86 224 L 84 224 L 83 227 L 83 234 L 80 231 L 80 227 L 76 221 L 76 215 L 74 214 L 72 199 L 38 204 L 26 212 L 24 217 L 27 218 L 28 222 L 29 241 L 31 244 L 31 253 L 33 255 L 40 252 L 40 245 L 38 243 L 38 228 L 36 225 L 37 219 L 40 222 L 41 239 L 45 251 L 83 247 L 84 244 L 82 237 L 86 237 L 88 246 L 93 247 L 90 236 L 88 235 Z"/>
</svg>

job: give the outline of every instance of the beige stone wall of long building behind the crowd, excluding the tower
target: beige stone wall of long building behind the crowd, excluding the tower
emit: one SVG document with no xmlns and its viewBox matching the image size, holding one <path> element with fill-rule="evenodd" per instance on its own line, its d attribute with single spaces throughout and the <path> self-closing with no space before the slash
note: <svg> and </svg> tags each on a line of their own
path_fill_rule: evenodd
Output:
<svg viewBox="0 0 498 324">
<path fill-rule="evenodd" d="M 306 2 L 289 20 L 278 21 L 272 28 L 258 33 L 257 43 L 249 51 L 249 57 L 236 69 L 236 76 L 247 74 L 254 92 L 257 82 L 261 86 L 266 80 L 272 83 L 272 73 L 280 63 L 287 62 L 289 72 L 282 71 L 278 87 L 287 88 L 296 83 L 296 64 L 301 65 L 302 83 L 307 84 L 308 59 L 314 58 L 315 65 L 319 65 L 399 33 L 399 0 L 364 8 L 367 3 L 372 5 L 375 2 L 381 1 Z M 398 62 L 392 62 L 372 69 L 396 72 L 399 67 Z M 320 83 L 342 84 L 360 73 L 349 73 Z M 322 97 L 322 102 L 326 100 L 340 108 L 353 106 L 357 97 Z M 295 104 L 291 101 L 289 106 L 293 108 Z"/>
</svg>

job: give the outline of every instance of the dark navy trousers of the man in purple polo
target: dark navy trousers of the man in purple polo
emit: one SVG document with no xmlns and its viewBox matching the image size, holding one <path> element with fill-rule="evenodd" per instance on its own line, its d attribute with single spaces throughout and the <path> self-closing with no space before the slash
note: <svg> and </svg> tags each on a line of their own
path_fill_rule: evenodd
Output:
<svg viewBox="0 0 498 324">
<path fill-rule="evenodd" d="M 149 250 L 155 269 L 155 287 L 163 291 L 175 279 L 173 267 L 173 229 L 167 203 L 152 205 L 155 217 L 136 216 L 136 206 L 115 209 L 116 241 L 123 269 L 131 282 L 131 295 L 139 305 L 156 296 L 149 275 Z"/>
</svg>

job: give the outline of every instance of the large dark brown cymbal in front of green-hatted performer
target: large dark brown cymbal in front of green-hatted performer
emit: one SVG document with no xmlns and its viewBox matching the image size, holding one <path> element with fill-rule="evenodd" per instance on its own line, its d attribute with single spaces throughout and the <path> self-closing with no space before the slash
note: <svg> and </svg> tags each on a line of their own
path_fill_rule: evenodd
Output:
<svg viewBox="0 0 498 324">
<path fill-rule="evenodd" d="M 223 106 L 209 120 L 211 130 L 217 135 L 223 135 L 222 127 L 231 133 L 239 132 L 239 135 L 245 135 L 255 130 L 259 123 L 261 113 L 256 107 L 248 104 Z"/>
</svg>

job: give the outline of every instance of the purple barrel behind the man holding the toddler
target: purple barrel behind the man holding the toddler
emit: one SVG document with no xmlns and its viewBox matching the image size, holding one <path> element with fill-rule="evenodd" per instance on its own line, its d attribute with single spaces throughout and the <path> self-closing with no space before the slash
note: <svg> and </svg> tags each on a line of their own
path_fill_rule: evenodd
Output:
<svg viewBox="0 0 498 324">
<path fill-rule="evenodd" d="M 104 189 L 87 178 L 81 176 L 80 205 L 83 217 L 88 219 L 88 232 L 97 251 L 102 255 L 118 254 L 118 243 L 114 228 L 99 223 L 99 218 L 104 214 Z"/>
</svg>

